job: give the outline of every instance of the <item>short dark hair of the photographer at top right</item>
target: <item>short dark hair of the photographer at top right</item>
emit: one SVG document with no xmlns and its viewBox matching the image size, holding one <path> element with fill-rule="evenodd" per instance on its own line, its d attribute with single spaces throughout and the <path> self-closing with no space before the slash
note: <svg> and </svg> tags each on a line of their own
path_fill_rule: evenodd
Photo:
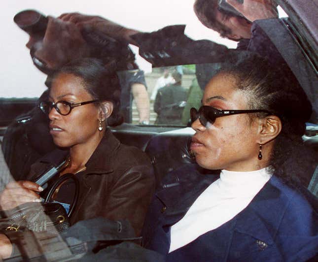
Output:
<svg viewBox="0 0 318 262">
<path fill-rule="evenodd" d="M 217 0 L 196 0 L 193 8 L 196 16 L 204 26 L 218 32 L 222 37 L 231 33 L 231 29 L 215 19 Z M 238 41 L 237 39 L 232 40 Z"/>
</svg>

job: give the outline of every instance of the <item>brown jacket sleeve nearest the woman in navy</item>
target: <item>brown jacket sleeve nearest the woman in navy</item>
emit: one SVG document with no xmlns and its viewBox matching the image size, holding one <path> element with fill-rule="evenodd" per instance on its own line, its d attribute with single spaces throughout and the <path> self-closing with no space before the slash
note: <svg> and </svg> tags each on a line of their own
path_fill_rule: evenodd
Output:
<svg viewBox="0 0 318 262">
<path fill-rule="evenodd" d="M 151 165 L 130 167 L 111 189 L 102 215 L 112 220 L 129 220 L 139 236 L 155 191 L 154 181 Z"/>
</svg>

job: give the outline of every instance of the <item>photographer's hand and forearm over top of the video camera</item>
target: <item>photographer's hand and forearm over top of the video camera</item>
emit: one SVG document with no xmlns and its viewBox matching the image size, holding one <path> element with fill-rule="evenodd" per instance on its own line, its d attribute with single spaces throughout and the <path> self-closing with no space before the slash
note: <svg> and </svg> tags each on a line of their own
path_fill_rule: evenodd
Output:
<svg viewBox="0 0 318 262">
<path fill-rule="evenodd" d="M 130 38 L 130 36 L 135 33 L 139 33 L 136 30 L 125 28 L 100 16 L 89 16 L 80 13 L 65 13 L 59 18 L 62 21 L 75 24 L 80 31 L 100 32 L 116 40 L 126 41 L 132 44 L 136 44 L 136 42 Z"/>
</svg>

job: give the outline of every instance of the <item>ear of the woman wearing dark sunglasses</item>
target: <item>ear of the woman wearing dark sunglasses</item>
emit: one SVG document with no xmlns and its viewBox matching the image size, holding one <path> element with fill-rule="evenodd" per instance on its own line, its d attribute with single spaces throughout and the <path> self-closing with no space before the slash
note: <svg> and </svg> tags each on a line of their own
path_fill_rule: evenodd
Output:
<svg viewBox="0 0 318 262">
<path fill-rule="evenodd" d="M 275 139 L 282 131 L 282 121 L 277 116 L 267 116 L 260 119 L 259 144 L 266 144 Z"/>
</svg>

